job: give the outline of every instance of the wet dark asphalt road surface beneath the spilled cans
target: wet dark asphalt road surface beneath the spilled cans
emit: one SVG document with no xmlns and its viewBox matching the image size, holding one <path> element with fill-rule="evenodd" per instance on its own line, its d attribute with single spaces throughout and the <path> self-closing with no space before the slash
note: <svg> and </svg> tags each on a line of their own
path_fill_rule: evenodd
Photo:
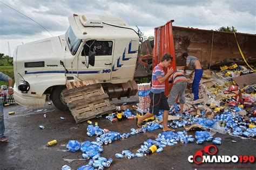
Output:
<svg viewBox="0 0 256 170">
<path fill-rule="evenodd" d="M 8 115 L 9 111 L 15 111 L 15 115 Z M 9 136 L 8 143 L 0 144 L 0 169 L 60 169 L 63 165 L 69 165 L 76 169 L 86 165 L 88 160 L 82 159 L 82 152 L 71 153 L 66 151 L 66 144 L 69 140 L 95 140 L 96 137 L 86 136 L 87 123 L 76 124 L 69 111 L 63 112 L 53 105 L 46 105 L 45 108 L 26 108 L 21 105 L 13 105 L 4 108 L 5 134 Z M 43 115 L 46 114 L 45 118 Z M 65 117 L 61 120 L 60 116 Z M 105 118 L 92 119 L 97 121 L 100 128 L 128 132 L 136 128 L 135 121 L 125 120 L 122 122 L 109 122 Z M 45 129 L 39 129 L 44 125 Z M 184 130 L 183 128 L 178 129 Z M 109 169 L 256 169 L 255 162 L 243 164 L 200 164 L 188 162 L 188 156 L 203 149 L 204 146 L 212 144 L 205 142 L 198 145 L 189 143 L 184 145 L 168 146 L 161 153 L 154 153 L 143 158 L 132 160 L 116 159 L 115 153 L 130 149 L 136 151 L 146 139 L 154 139 L 161 130 L 137 134 L 130 138 L 114 141 L 104 146 L 102 156 L 113 158 L 113 164 Z M 194 134 L 194 132 L 190 132 Z M 241 139 L 229 136 L 228 134 L 215 134 L 214 137 L 221 137 L 222 144 L 218 145 L 217 155 L 254 155 L 255 140 Z M 48 147 L 48 141 L 56 139 L 57 145 Z M 232 143 L 232 140 L 237 143 Z M 206 154 L 207 155 L 207 154 Z"/>
</svg>

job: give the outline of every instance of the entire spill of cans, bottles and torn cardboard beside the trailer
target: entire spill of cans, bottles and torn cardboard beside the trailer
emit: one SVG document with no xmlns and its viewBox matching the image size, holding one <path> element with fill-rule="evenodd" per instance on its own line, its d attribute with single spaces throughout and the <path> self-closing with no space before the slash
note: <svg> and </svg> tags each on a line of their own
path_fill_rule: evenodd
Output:
<svg viewBox="0 0 256 170">
<path fill-rule="evenodd" d="M 224 76 L 226 76 L 226 72 L 223 72 Z M 228 133 L 233 136 L 247 138 L 254 137 L 256 134 L 254 118 L 256 111 L 253 107 L 255 103 L 255 90 L 252 90 L 254 86 L 252 85 L 246 87 L 246 90 L 242 90 L 239 86 L 235 85 L 234 81 L 232 81 L 231 85 L 228 85 L 226 81 L 218 80 L 215 74 L 205 76 L 208 78 L 202 80 L 199 93 L 201 99 L 192 101 L 191 98 L 187 98 L 188 102 L 184 107 L 185 110 L 183 110 L 182 115 L 179 114 L 179 105 L 174 104 L 170 108 L 168 126 L 173 129 L 185 128 L 186 131 L 196 130 L 194 137 L 193 135 L 188 135 L 186 131 L 159 133 L 156 139 L 147 139 L 144 141 L 143 145 L 138 148 L 136 153 L 125 150 L 122 153 L 116 153 L 115 157 L 118 159 L 139 158 L 143 157 L 144 154 L 149 155 L 154 152 L 162 152 L 164 147 L 174 146 L 178 144 L 178 142 L 180 144 L 188 144 L 196 141 L 197 144 L 202 144 L 204 141 L 212 141 L 213 144 L 220 145 L 221 138 L 213 138 L 210 132 Z M 221 74 L 218 73 L 218 75 L 220 76 Z M 232 72 L 232 76 L 233 75 L 235 75 L 235 72 Z M 231 80 L 228 79 L 228 81 Z M 122 110 L 121 107 L 117 107 L 117 112 L 106 116 L 106 118 L 111 122 L 115 122 L 118 120 L 121 121 L 123 118 L 130 119 L 130 117 L 134 118 L 135 116 L 138 117 L 145 114 L 147 111 L 145 108 L 148 107 L 147 102 L 145 102 L 145 97 L 149 94 L 149 84 L 139 84 L 138 89 L 140 103 L 137 108 L 132 107 Z M 190 89 L 187 89 L 187 91 L 190 93 Z M 125 107 L 127 107 L 127 105 L 125 105 Z M 137 115 L 134 115 L 134 112 L 136 112 Z M 94 126 L 91 121 L 87 121 L 89 124 L 87 126 L 87 136 L 92 137 L 96 135 L 97 138 L 96 141 L 85 141 L 80 144 L 83 158 L 90 159 L 85 167 L 109 167 L 110 165 L 107 165 L 105 158 L 99 160 L 100 153 L 103 152 L 103 145 L 113 143 L 113 141 L 116 140 L 127 139 L 130 136 L 145 133 L 146 131 L 163 129 L 163 125 L 160 124 L 162 119 L 163 111 L 160 110 L 158 116 L 154 116 L 152 119 L 144 122 L 142 129 L 132 128 L 130 132 L 123 134 L 100 129 L 98 124 Z M 232 142 L 235 141 L 232 140 Z M 77 141 L 76 144 L 77 146 L 74 151 L 79 150 L 79 142 Z M 87 149 L 85 149 L 85 147 Z M 71 149 L 69 148 L 69 150 Z"/>
</svg>

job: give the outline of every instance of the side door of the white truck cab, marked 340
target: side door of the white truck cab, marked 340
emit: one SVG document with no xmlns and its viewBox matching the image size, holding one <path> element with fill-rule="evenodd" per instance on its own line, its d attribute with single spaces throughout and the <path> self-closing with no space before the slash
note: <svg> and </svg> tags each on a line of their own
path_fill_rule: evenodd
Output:
<svg viewBox="0 0 256 170">
<path fill-rule="evenodd" d="M 113 47 L 113 40 L 86 41 L 78 56 L 78 77 L 82 80 L 110 81 Z M 95 52 L 95 66 L 88 64 L 89 51 Z"/>
</svg>

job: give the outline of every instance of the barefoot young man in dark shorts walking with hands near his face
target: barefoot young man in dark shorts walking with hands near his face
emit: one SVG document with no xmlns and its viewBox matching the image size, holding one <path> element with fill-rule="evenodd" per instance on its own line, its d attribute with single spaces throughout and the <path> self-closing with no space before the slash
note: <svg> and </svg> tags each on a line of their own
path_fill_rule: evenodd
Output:
<svg viewBox="0 0 256 170">
<path fill-rule="evenodd" d="M 167 98 L 164 94 L 165 91 L 165 81 L 173 73 L 173 68 L 168 68 L 172 62 L 172 56 L 165 53 L 161 62 L 154 67 L 152 72 L 152 87 L 150 92 L 150 111 L 147 112 L 144 116 L 137 119 L 138 128 L 142 127 L 142 122 L 144 119 L 150 118 L 153 115 L 158 115 L 159 110 L 164 110 L 163 114 L 163 131 L 174 131 L 167 127 L 168 115 L 169 115 L 169 104 Z M 164 73 L 164 68 L 167 68 L 167 73 Z"/>
</svg>

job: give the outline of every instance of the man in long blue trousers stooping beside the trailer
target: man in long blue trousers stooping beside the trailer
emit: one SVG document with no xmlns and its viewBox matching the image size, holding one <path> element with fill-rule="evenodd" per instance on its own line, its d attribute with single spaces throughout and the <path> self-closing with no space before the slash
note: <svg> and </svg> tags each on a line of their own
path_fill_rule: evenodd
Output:
<svg viewBox="0 0 256 170">
<path fill-rule="evenodd" d="M 194 101 L 199 99 L 199 82 L 203 76 L 203 68 L 201 63 L 196 56 L 188 55 L 187 53 L 182 54 L 183 58 L 186 59 L 186 65 L 184 68 L 184 75 L 186 75 L 186 69 L 188 66 L 194 67 L 194 70 L 189 75 L 190 77 L 194 73 L 194 80 L 192 84 L 192 93 L 194 94 Z"/>
</svg>

